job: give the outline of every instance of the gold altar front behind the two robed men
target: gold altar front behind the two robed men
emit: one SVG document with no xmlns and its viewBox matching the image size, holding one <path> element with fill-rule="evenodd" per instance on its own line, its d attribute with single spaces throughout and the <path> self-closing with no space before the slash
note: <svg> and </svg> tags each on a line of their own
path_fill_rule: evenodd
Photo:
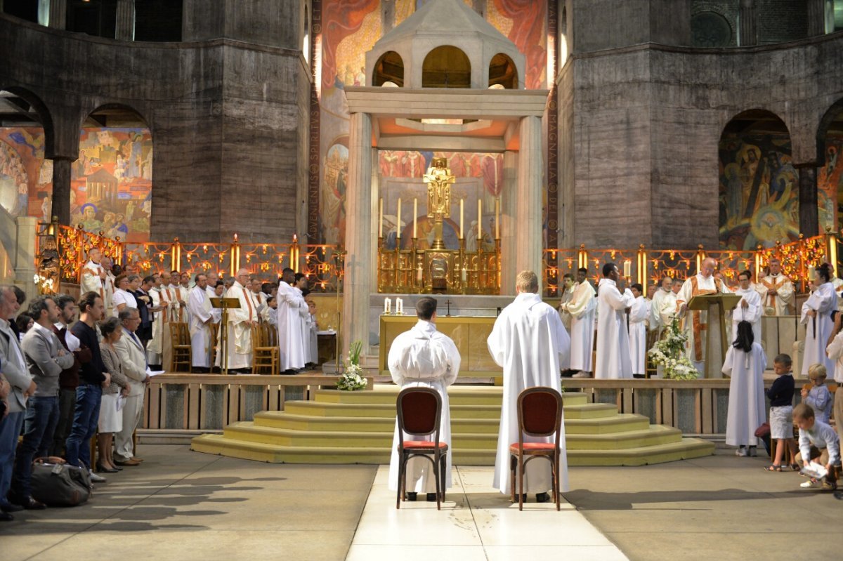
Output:
<svg viewBox="0 0 843 561">
<path fill-rule="evenodd" d="M 462 362 L 459 366 L 459 380 L 466 378 L 501 377 L 502 370 L 495 364 L 486 346 L 486 339 L 495 325 L 495 316 L 437 316 L 436 329 L 439 333 L 454 339 Z M 399 334 L 416 325 L 416 315 L 382 315 L 380 317 L 379 370 L 389 376 L 386 364 L 389 347 Z"/>
</svg>

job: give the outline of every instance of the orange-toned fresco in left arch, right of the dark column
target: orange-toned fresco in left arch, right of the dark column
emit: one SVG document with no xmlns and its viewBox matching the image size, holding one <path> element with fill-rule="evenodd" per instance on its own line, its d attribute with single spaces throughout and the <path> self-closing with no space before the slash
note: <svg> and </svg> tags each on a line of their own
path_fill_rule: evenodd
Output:
<svg viewBox="0 0 843 561">
<path fill-rule="evenodd" d="M 152 177 L 148 129 L 83 129 L 72 165 L 71 222 L 109 238 L 148 242 Z"/>
</svg>

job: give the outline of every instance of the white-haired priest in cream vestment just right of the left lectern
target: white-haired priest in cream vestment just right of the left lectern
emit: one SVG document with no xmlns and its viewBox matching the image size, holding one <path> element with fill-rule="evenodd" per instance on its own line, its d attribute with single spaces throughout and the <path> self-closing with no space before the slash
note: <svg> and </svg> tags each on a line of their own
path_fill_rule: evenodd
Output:
<svg viewBox="0 0 843 561">
<path fill-rule="evenodd" d="M 240 307 L 228 310 L 228 323 L 221 325 L 220 329 L 228 329 L 227 363 L 228 370 L 242 372 L 250 371 L 252 367 L 252 325 L 258 321 L 255 306 L 249 297 L 245 284 L 249 282 L 249 270 L 240 269 L 234 284 L 228 289 L 225 297 L 237 298 Z M 183 314 L 184 317 L 184 314 Z M 217 336 L 217 360 L 216 366 L 221 366 L 223 360 L 222 334 Z"/>
</svg>

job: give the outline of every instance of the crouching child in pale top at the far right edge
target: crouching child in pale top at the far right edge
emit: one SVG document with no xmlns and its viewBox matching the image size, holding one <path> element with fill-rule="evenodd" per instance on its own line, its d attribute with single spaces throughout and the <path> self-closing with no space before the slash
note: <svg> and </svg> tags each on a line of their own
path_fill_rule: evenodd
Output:
<svg viewBox="0 0 843 561">
<path fill-rule="evenodd" d="M 805 403 L 799 403 L 793 409 L 793 420 L 799 427 L 799 453 L 797 462 L 802 461 L 808 466 L 809 462 L 817 462 L 826 472 L 823 489 L 837 489 L 837 469 L 840 463 L 840 438 L 837 431 L 826 423 L 815 419 L 813 409 Z M 816 487 L 816 479 L 806 481 L 804 488 Z"/>
</svg>

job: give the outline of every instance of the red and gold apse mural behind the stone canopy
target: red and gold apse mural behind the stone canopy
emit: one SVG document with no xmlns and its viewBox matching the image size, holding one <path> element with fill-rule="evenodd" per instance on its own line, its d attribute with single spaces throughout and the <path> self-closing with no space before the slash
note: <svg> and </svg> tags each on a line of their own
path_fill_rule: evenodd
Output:
<svg viewBox="0 0 843 561">
<path fill-rule="evenodd" d="M 472 6 L 472 0 L 465 2 Z M 345 238 L 345 184 L 348 153 L 348 110 L 343 89 L 366 84 L 366 52 L 377 40 L 424 5 L 423 0 L 323 0 L 320 114 L 319 237 L 324 243 L 343 243 Z M 534 0 L 486 0 L 486 21 L 515 43 L 526 57 L 527 88 L 545 88 L 547 72 L 547 5 Z M 344 155 L 343 155 L 344 149 Z M 381 152 L 382 154 L 384 152 Z M 400 158 L 408 157 L 411 153 Z M 483 167 L 482 154 L 475 163 L 452 162 L 454 174 L 459 166 Z M 383 156 L 382 156 L 383 158 Z M 429 158 L 427 160 L 429 162 Z M 344 167 L 337 168 L 338 165 Z M 387 164 L 389 165 L 389 164 Z M 402 165 L 412 166 L 405 162 Z M 489 165 L 487 163 L 487 165 Z M 496 164 L 497 165 L 497 164 Z M 502 166 L 502 157 L 501 163 Z M 427 171 L 427 167 L 418 173 Z M 403 173 L 403 172 L 402 172 Z M 414 172 L 416 173 L 416 172 Z M 475 173 L 472 171 L 471 173 Z M 481 177 L 465 175 L 458 177 Z M 393 175 L 393 177 L 410 177 Z M 416 175 L 413 175 L 416 177 Z M 421 177 L 418 175 L 417 177 Z M 498 184 L 499 188 L 499 184 Z M 493 199 L 492 199 L 493 200 Z M 327 203 L 328 208 L 325 208 Z M 476 208 L 476 202 L 475 202 Z M 467 234 L 466 234 L 467 235 Z"/>
</svg>

